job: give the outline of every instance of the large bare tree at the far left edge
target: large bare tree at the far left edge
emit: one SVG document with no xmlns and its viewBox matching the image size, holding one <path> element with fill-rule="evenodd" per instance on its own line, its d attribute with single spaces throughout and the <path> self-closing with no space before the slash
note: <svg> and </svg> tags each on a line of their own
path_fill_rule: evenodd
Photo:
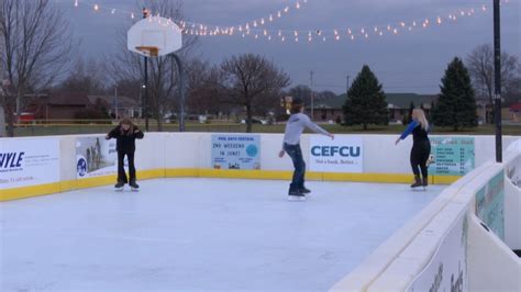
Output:
<svg viewBox="0 0 521 292">
<path fill-rule="evenodd" d="M 0 38 L 0 65 L 13 88 L 2 105 L 8 135 L 13 136 L 14 111 L 20 116 L 22 96 L 49 86 L 67 71 L 74 43 L 70 25 L 51 0 L 1 0 Z"/>
</svg>

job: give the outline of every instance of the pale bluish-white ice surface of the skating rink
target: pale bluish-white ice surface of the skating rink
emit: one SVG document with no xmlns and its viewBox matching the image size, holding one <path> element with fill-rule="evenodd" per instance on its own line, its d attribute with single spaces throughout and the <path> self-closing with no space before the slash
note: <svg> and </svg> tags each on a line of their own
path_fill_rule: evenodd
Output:
<svg viewBox="0 0 521 292">
<path fill-rule="evenodd" d="M 444 187 L 158 179 L 0 203 L 0 291 L 326 291 Z"/>
</svg>

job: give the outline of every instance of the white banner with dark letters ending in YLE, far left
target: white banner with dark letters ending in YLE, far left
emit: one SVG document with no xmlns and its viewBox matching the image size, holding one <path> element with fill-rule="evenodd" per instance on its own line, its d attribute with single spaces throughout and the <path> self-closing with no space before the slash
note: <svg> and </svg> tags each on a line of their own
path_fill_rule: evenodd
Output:
<svg viewBox="0 0 521 292">
<path fill-rule="evenodd" d="M 3 139 L 0 142 L 0 189 L 58 181 L 58 139 Z"/>
</svg>

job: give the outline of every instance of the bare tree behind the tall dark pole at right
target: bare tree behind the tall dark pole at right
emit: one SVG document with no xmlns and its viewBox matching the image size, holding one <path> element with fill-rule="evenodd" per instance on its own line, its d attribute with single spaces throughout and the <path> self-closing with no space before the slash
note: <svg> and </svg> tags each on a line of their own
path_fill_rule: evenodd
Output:
<svg viewBox="0 0 521 292">
<path fill-rule="evenodd" d="M 474 88 L 477 92 L 488 99 L 494 104 L 494 48 L 489 44 L 476 47 L 466 59 L 466 65 L 473 79 Z M 516 88 L 519 82 L 520 67 L 519 59 L 516 56 L 501 53 L 501 91 L 507 93 Z M 519 85 L 518 85 L 519 87 Z M 508 96 L 507 96 L 508 97 Z"/>
</svg>

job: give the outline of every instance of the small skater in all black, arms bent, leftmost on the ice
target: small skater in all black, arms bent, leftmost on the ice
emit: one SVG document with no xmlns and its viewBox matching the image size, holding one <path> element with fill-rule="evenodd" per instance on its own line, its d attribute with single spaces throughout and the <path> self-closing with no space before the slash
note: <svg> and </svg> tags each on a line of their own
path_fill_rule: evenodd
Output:
<svg viewBox="0 0 521 292">
<path fill-rule="evenodd" d="M 135 139 L 142 139 L 144 137 L 143 132 L 137 128 L 130 119 L 123 119 L 114 130 L 107 134 L 106 139 L 115 138 L 118 151 L 118 183 L 117 189 L 123 188 L 125 183 L 133 189 L 138 189 L 140 186 L 135 182 L 135 166 L 134 166 L 134 153 L 135 153 Z M 125 169 L 123 167 L 123 160 L 129 159 L 129 180 L 126 179 Z M 129 182 L 130 181 L 130 182 Z"/>
</svg>

